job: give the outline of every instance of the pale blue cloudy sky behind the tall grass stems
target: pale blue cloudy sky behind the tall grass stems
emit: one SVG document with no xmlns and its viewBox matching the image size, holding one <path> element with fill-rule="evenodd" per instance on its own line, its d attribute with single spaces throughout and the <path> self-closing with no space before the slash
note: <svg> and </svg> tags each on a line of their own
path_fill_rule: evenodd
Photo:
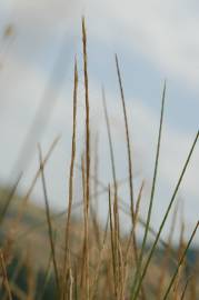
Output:
<svg viewBox="0 0 199 300">
<path fill-rule="evenodd" d="M 157 228 L 199 129 L 198 1 L 1 0 L 0 180 L 10 182 L 19 170 L 23 170 L 19 189 L 26 191 L 38 168 L 37 142 L 47 152 L 53 139 L 61 136 L 46 172 L 51 207 L 57 210 L 66 207 L 74 56 L 80 74 L 77 160 L 83 149 L 82 14 L 88 33 L 93 141 L 99 133 L 99 177 L 105 184 L 112 181 L 101 103 L 102 84 L 107 94 L 118 179 L 128 176 L 125 154 L 121 158 L 121 153 L 126 153 L 126 140 L 115 63 L 117 53 L 131 132 L 136 192 L 141 181 L 146 181 L 143 214 L 151 187 L 163 81 L 167 80 L 158 188 L 152 213 L 152 223 Z M 42 106 L 44 109 L 38 117 Z M 38 126 L 32 129 L 32 123 Z M 199 146 L 178 194 L 179 202 L 183 203 L 187 236 L 199 216 L 198 166 Z M 77 189 L 80 186 L 78 172 L 76 170 Z M 123 184 L 120 194 L 128 202 L 127 190 L 127 184 Z M 40 183 L 32 198 L 38 203 L 43 202 Z M 106 212 L 106 204 L 102 204 L 100 213 L 105 216 Z"/>
</svg>

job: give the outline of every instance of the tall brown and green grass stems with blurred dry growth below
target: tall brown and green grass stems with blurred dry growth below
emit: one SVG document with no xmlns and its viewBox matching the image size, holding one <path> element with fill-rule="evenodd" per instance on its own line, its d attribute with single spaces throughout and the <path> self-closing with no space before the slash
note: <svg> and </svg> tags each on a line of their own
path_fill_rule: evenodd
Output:
<svg viewBox="0 0 199 300">
<path fill-rule="evenodd" d="M 73 132 L 71 146 L 71 163 L 69 170 L 68 210 L 60 214 L 52 214 L 49 208 L 48 189 L 46 184 L 44 167 L 48 163 L 59 139 L 54 140 L 49 152 L 43 157 L 41 147 L 38 147 L 40 168 L 36 173 L 27 194 L 22 201 L 14 204 L 12 218 L 8 218 L 11 201 L 14 202 L 14 193 L 20 181 L 17 180 L 13 189 L 7 196 L 1 196 L 1 231 L 4 232 L 1 240 L 0 269 L 1 269 L 1 297 L 2 299 L 117 299 L 117 300 L 166 300 L 166 299 L 191 299 L 197 300 L 199 290 L 197 287 L 197 263 L 195 268 L 187 261 L 187 251 L 192 242 L 198 223 L 189 239 L 185 242 L 183 223 L 178 249 L 172 248 L 172 232 L 176 226 L 176 213 L 173 214 L 170 236 L 167 241 L 161 239 L 161 232 L 167 218 L 175 206 L 175 200 L 187 167 L 191 159 L 198 141 L 198 133 L 188 153 L 179 180 L 173 190 L 168 209 L 160 224 L 155 230 L 150 226 L 153 198 L 157 186 L 157 172 L 161 146 L 161 129 L 163 124 L 163 110 L 166 102 L 166 83 L 162 92 L 161 114 L 159 136 L 155 162 L 150 203 L 147 220 L 140 218 L 140 201 L 145 182 L 139 193 L 133 190 L 133 159 L 131 154 L 131 140 L 129 134 L 128 118 L 126 111 L 125 93 L 119 61 L 116 56 L 116 69 L 118 74 L 122 111 L 126 126 L 126 142 L 129 167 L 129 199 L 127 208 L 118 197 L 118 181 L 115 169 L 115 150 L 112 146 L 111 128 L 106 106 L 106 93 L 102 89 L 105 118 L 109 138 L 109 149 L 112 167 L 113 184 L 107 184 L 105 193 L 109 202 L 109 212 L 106 227 L 103 228 L 97 216 L 93 201 L 91 202 L 91 182 L 102 184 L 98 174 L 90 172 L 90 122 L 89 122 L 89 78 L 87 62 L 87 33 L 84 19 L 82 20 L 82 49 L 83 49 L 83 74 L 84 74 L 84 107 L 86 107 L 86 141 L 84 152 L 81 157 L 81 189 L 83 201 L 73 203 L 73 173 L 76 163 L 76 137 L 77 137 L 77 103 L 78 103 L 78 63 L 74 61 L 73 78 Z M 41 178 L 43 197 L 46 201 L 46 220 L 37 217 L 33 224 L 24 226 L 27 209 L 32 212 L 32 206 L 28 204 L 31 192 L 37 180 Z M 92 191 L 93 194 L 96 190 Z M 72 210 L 79 206 L 82 209 L 82 218 L 74 220 Z M 121 234 L 120 210 L 131 218 L 131 232 Z M 11 214 L 12 216 L 12 214 Z M 38 213 L 37 213 L 38 216 Z M 143 240 L 140 244 L 137 237 L 137 228 L 145 229 Z M 148 237 L 152 234 L 153 242 L 149 247 Z M 160 250 L 161 249 L 161 250 Z M 9 268 L 12 264 L 16 253 L 20 253 L 18 263 L 13 267 L 12 276 L 9 276 Z M 18 286 L 14 273 L 22 263 L 27 268 L 26 288 Z M 37 273 L 39 268 L 43 271 L 42 286 L 37 286 Z M 49 284 L 53 287 L 56 294 L 44 296 Z M 46 297 L 46 298 L 44 298 Z"/>
</svg>

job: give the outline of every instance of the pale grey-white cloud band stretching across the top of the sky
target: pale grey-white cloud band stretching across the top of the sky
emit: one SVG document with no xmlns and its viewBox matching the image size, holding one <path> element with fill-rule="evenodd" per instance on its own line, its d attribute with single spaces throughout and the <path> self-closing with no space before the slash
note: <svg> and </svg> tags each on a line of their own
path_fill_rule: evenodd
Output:
<svg viewBox="0 0 199 300">
<path fill-rule="evenodd" d="M 2 7 L 3 3 L 6 0 Z M 28 44 L 32 48 L 56 39 L 71 24 L 73 31 L 84 12 L 90 39 L 106 41 L 112 51 L 117 50 L 117 43 L 129 51 L 133 49 L 157 64 L 163 77 L 175 76 L 183 80 L 183 84 L 196 88 L 199 78 L 198 11 L 193 0 L 18 0 L 10 20 L 19 38 L 22 34 L 26 48 Z"/>
</svg>

